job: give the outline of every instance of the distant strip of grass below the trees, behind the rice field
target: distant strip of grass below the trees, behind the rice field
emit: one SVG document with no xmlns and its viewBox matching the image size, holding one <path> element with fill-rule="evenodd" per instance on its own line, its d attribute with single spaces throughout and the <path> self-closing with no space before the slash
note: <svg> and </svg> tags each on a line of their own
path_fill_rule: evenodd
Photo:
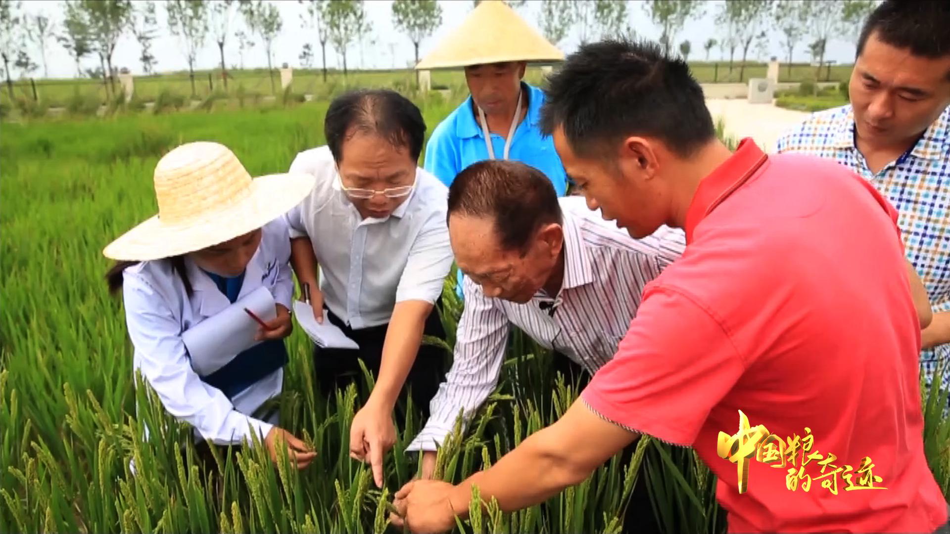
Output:
<svg viewBox="0 0 950 534">
<path fill-rule="evenodd" d="M 693 75 L 701 83 L 717 82 L 739 82 L 740 68 L 736 62 L 730 71 L 727 63 L 691 63 Z M 750 78 L 764 78 L 766 76 L 766 65 L 749 64 L 743 73 L 743 80 Z M 830 70 L 830 79 L 833 81 L 844 81 L 850 76 L 851 66 L 834 66 Z M 209 83 L 208 75 L 211 74 Z M 819 76 L 825 80 L 828 74 L 826 68 L 822 68 Z M 270 95 L 272 93 L 270 77 L 266 69 L 256 70 L 236 70 L 231 72 L 232 78 L 228 81 L 228 90 L 231 94 L 242 86 L 243 90 L 252 95 Z M 807 65 L 794 65 L 790 73 L 786 67 L 780 68 L 779 80 L 782 82 L 800 82 L 811 80 L 815 76 L 815 68 Z M 525 79 L 534 84 L 542 81 L 542 72 L 540 67 L 529 67 Z M 274 82 L 276 91 L 280 91 L 280 75 L 275 70 Z M 319 69 L 295 69 L 293 90 L 296 93 L 313 94 L 315 96 L 325 96 L 334 94 L 343 87 L 353 86 L 379 86 L 393 87 L 396 89 L 409 89 L 415 85 L 415 74 L 410 70 L 363 70 L 352 71 L 344 76 L 341 71 L 331 71 L 327 82 L 323 81 Z M 465 85 L 465 77 L 461 70 L 441 69 L 432 71 L 432 86 L 447 86 L 453 89 L 462 90 Z M 18 99 L 33 98 L 32 86 L 29 81 L 14 82 L 13 94 Z M 220 70 L 208 71 L 201 70 L 195 74 L 195 94 L 196 98 L 204 98 L 215 89 L 222 90 L 220 79 Z M 135 78 L 136 98 L 146 102 L 155 100 L 158 95 L 167 90 L 173 94 L 187 97 L 191 95 L 191 80 L 188 73 L 174 73 L 157 76 L 138 76 Z M 105 102 L 105 88 L 102 81 L 96 80 L 37 80 L 36 91 L 39 100 L 45 105 L 51 107 L 65 106 L 69 99 L 77 92 L 84 97 L 93 100 L 98 99 L 100 103 Z M 0 91 L 0 104 L 10 105 L 10 94 L 7 87 L 4 86 Z"/>
</svg>

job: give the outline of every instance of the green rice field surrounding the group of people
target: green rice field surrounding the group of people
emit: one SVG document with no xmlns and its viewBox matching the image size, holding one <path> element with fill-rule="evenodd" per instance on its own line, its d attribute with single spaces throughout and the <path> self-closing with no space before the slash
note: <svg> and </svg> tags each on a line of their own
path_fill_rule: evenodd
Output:
<svg viewBox="0 0 950 534">
<path fill-rule="evenodd" d="M 431 129 L 454 103 L 419 105 Z M 325 110 L 314 102 L 0 125 L 0 532 L 391 529 L 391 495 L 417 469 L 402 450 L 420 429 L 418 410 L 397 422 L 385 486 L 377 489 L 346 443 L 365 391 L 315 395 L 309 343 L 296 329 L 277 402 L 281 426 L 317 450 L 313 464 L 301 472 L 286 461 L 274 468 L 261 448 L 250 448 L 219 454 L 217 468 L 204 469 L 190 430 L 170 420 L 147 388 L 135 387 L 122 304 L 103 280 L 103 246 L 156 211 L 151 171 L 161 154 L 211 140 L 231 147 L 253 175 L 282 171 L 296 152 L 324 143 Z M 449 347 L 461 313 L 453 279 L 444 294 L 447 339 L 429 340 Z M 552 375 L 550 357 L 512 337 L 498 390 L 471 429 L 440 451 L 438 476 L 460 481 L 558 418 L 578 391 Z M 928 458 L 946 494 L 946 392 L 924 394 Z M 641 463 L 646 476 L 637 477 Z M 489 505 L 461 529 L 618 532 L 634 485 L 645 484 L 665 531 L 719 533 L 725 514 L 714 483 L 691 449 L 643 439 L 628 464 L 615 457 L 579 486 L 520 512 Z"/>
</svg>

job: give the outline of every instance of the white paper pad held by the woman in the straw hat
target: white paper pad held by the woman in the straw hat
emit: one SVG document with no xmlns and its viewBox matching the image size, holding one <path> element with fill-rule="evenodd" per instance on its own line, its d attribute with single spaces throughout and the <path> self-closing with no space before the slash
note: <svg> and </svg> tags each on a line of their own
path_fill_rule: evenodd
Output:
<svg viewBox="0 0 950 534">
<path fill-rule="evenodd" d="M 206 376 L 218 371 L 238 353 L 260 343 L 254 338 L 260 325 L 247 315 L 244 308 L 254 312 L 263 321 L 270 321 L 277 316 L 274 296 L 266 287 L 260 286 L 181 334 L 181 340 L 191 355 L 191 367 L 199 375 Z"/>
</svg>

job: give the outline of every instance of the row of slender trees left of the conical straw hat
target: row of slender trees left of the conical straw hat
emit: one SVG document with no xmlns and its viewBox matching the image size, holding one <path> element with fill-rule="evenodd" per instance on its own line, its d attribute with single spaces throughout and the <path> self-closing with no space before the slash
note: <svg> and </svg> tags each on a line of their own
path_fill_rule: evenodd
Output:
<svg viewBox="0 0 950 534">
<path fill-rule="evenodd" d="M 300 24 L 315 30 L 323 56 L 326 79 L 326 48 L 337 50 L 347 70 L 347 51 L 371 33 L 371 24 L 363 0 L 298 0 L 304 5 Z M 195 90 L 195 67 L 199 51 L 213 41 L 218 46 L 220 75 L 227 88 L 228 68 L 225 48 L 237 41 L 240 67 L 244 54 L 258 43 L 264 47 L 267 67 L 274 89 L 274 43 L 284 28 L 283 17 L 274 2 L 265 0 L 146 0 L 133 4 L 130 0 L 65 0 L 63 20 L 54 23 L 47 14 L 27 14 L 22 1 L 0 0 L 0 59 L 10 97 L 13 96 L 12 69 L 28 76 L 38 69 L 29 54 L 29 45 L 39 49 L 44 73 L 47 75 L 47 48 L 53 42 L 65 48 L 76 65 L 77 76 L 102 77 L 107 94 L 115 91 L 116 69 L 112 59 L 123 35 L 138 42 L 139 61 L 145 74 L 155 72 L 157 64 L 152 42 L 159 35 L 157 10 L 167 16 L 167 29 L 180 42 L 192 94 Z M 238 28 L 237 23 L 243 22 Z M 301 53 L 312 53 L 308 45 Z M 83 69 L 87 57 L 98 58 L 99 67 Z"/>
</svg>

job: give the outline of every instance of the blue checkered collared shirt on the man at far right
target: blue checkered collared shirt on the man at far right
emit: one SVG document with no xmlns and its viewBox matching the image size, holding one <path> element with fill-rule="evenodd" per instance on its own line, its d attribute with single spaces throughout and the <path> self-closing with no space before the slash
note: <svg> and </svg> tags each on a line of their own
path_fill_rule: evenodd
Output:
<svg viewBox="0 0 950 534">
<path fill-rule="evenodd" d="M 921 275 L 934 312 L 950 312 L 950 107 L 913 148 L 876 174 L 855 146 L 851 105 L 814 113 L 779 138 L 775 151 L 831 158 L 874 184 L 900 214 L 907 259 Z M 950 363 L 950 343 L 921 353 L 928 382 L 939 361 Z M 950 370 L 943 384 L 950 386 Z"/>
</svg>

